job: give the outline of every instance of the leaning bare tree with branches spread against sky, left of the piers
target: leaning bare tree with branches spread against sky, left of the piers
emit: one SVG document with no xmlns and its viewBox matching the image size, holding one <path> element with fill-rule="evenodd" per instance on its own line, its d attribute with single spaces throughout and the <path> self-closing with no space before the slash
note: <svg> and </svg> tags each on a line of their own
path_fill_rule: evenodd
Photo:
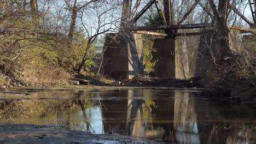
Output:
<svg viewBox="0 0 256 144">
<path fill-rule="evenodd" d="M 85 47 L 83 59 L 80 62 L 79 68 L 77 70 L 78 73 L 81 73 L 81 71 L 83 70 L 89 49 L 98 37 L 98 35 L 104 34 L 106 32 L 117 32 L 118 23 L 120 23 L 120 17 L 118 15 L 119 8 L 119 1 L 115 1 L 112 3 L 108 3 L 107 1 L 100 1 L 95 3 L 93 7 L 83 9 L 82 16 L 80 17 L 80 22 L 83 26 L 88 42 Z M 92 23 L 97 24 L 93 26 Z"/>
</svg>

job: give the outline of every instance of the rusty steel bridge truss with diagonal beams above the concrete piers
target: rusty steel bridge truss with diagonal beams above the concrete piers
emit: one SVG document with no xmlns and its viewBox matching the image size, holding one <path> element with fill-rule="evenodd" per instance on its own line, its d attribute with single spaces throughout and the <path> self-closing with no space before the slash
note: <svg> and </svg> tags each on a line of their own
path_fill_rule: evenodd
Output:
<svg viewBox="0 0 256 144">
<path fill-rule="evenodd" d="M 219 0 L 220 1 L 220 0 Z M 249 1 L 249 4 L 250 4 L 250 7 L 251 7 L 251 11 L 252 11 L 252 14 L 253 14 L 253 20 L 254 20 L 254 23 L 251 22 L 250 20 L 248 20 L 242 13 L 240 13 L 240 11 L 238 11 L 236 9 L 236 7 L 230 3 L 227 4 L 227 8 L 226 8 L 226 19 L 227 17 L 229 16 L 231 10 L 233 10 L 238 16 L 240 16 L 246 23 L 248 23 L 249 26 L 253 27 L 255 26 L 255 23 L 256 23 L 256 0 L 248 0 Z M 251 2 L 252 1 L 252 2 Z M 228 1 L 227 1 L 228 2 Z M 149 1 L 146 6 L 141 10 L 139 11 L 138 14 L 134 15 L 133 16 L 133 19 L 131 20 L 131 22 L 135 23 L 144 13 L 146 13 L 146 11 L 152 7 L 153 4 L 156 4 L 158 3 L 159 4 L 159 0 L 151 0 Z M 200 5 L 200 7 L 202 7 L 203 10 L 206 11 L 206 13 L 211 16 L 212 19 L 214 19 L 214 16 L 211 14 L 211 10 L 208 10 L 202 3 L 201 3 L 201 0 L 195 0 L 195 2 L 193 3 L 193 5 L 191 5 L 191 7 L 189 8 L 189 10 L 187 11 L 187 13 L 185 13 L 185 15 L 182 17 L 182 19 L 177 23 L 177 25 L 173 25 L 172 23 L 172 3 L 170 0 L 164 0 L 164 10 L 162 9 L 159 9 L 161 11 L 158 11 L 159 12 L 159 15 L 163 15 L 162 18 L 164 19 L 163 21 L 163 26 L 153 26 L 153 27 L 148 27 L 148 26 L 145 26 L 145 27 L 132 27 L 131 28 L 131 31 L 135 32 L 137 31 L 137 33 L 143 33 L 143 34 L 152 34 L 152 35 L 159 35 L 159 36 L 163 36 L 163 37 L 166 37 L 166 35 L 168 34 L 162 34 L 162 33 L 155 33 L 155 32 L 145 32 L 145 31 L 155 31 L 155 30 L 164 30 L 166 33 L 167 30 L 171 30 L 171 29 L 189 29 L 189 28 L 207 28 L 207 27 L 211 27 L 212 24 L 211 23 L 196 23 L 196 24 L 187 24 L 187 25 L 182 25 L 182 23 L 184 22 L 185 19 L 187 19 L 187 17 L 189 16 L 189 14 L 191 14 L 191 12 L 195 9 L 196 5 Z M 160 6 L 160 5 L 159 5 Z M 254 8 L 253 8 L 254 6 Z M 230 8 L 229 12 L 228 12 L 228 7 Z M 156 8 L 157 5 L 156 5 Z M 160 14 L 161 12 L 161 14 Z M 228 14 L 229 13 L 229 14 Z M 230 26 L 229 26 L 230 27 Z M 234 27 L 234 26 L 233 26 Z M 241 31 L 247 31 L 247 32 L 252 32 L 252 29 L 250 28 L 245 28 L 245 27 L 236 27 L 236 29 L 239 29 Z M 174 32 L 175 33 L 175 32 Z M 170 36 L 170 35 L 169 35 Z"/>
</svg>

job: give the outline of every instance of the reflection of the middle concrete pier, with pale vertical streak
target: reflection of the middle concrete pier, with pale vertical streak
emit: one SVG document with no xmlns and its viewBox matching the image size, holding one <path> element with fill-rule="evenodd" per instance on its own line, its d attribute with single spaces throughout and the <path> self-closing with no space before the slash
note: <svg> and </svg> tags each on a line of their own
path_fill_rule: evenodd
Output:
<svg viewBox="0 0 256 144">
<path fill-rule="evenodd" d="M 174 99 L 155 100 L 158 109 L 152 110 L 154 129 L 158 129 L 161 139 L 168 142 L 200 143 L 194 98 L 184 92 L 172 92 L 171 95 Z"/>
</svg>

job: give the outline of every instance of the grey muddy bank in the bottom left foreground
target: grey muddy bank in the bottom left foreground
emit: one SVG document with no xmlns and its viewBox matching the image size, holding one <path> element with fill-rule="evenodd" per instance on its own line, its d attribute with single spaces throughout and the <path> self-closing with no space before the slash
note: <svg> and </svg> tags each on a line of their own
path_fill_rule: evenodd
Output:
<svg viewBox="0 0 256 144">
<path fill-rule="evenodd" d="M 118 134 L 60 131 L 44 125 L 0 125 L 0 143 L 162 143 Z"/>
</svg>

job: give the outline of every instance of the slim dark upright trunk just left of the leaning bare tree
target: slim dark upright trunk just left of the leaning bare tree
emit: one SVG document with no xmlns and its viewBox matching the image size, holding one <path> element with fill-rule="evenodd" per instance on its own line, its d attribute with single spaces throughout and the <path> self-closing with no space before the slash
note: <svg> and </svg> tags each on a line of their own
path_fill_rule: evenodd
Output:
<svg viewBox="0 0 256 144">
<path fill-rule="evenodd" d="M 68 33 L 68 43 L 71 44 L 72 38 L 74 35 L 74 29 L 75 29 L 75 22 L 77 21 L 77 0 L 74 1 L 73 9 L 72 9 L 72 17 L 71 17 L 71 24 L 69 28 L 69 33 Z"/>
</svg>

